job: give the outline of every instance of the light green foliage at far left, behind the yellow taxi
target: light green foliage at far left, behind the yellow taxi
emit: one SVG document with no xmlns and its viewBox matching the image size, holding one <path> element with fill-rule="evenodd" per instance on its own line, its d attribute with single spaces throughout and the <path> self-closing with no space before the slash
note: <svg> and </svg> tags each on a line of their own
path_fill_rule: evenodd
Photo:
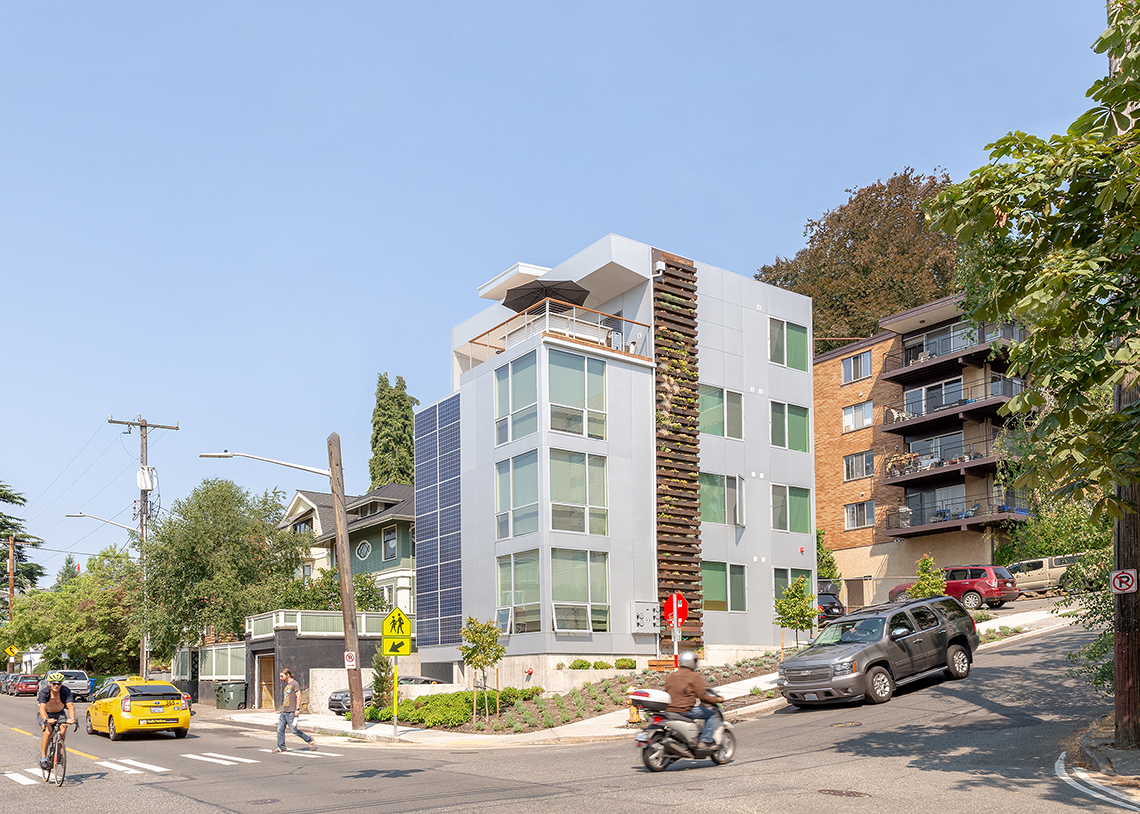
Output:
<svg viewBox="0 0 1140 814">
<path fill-rule="evenodd" d="M 139 591 L 138 562 L 128 552 L 107 548 L 88 562 L 87 573 L 51 591 L 17 596 L 5 641 L 21 649 L 42 644 L 47 667 L 138 669 Z"/>
</svg>

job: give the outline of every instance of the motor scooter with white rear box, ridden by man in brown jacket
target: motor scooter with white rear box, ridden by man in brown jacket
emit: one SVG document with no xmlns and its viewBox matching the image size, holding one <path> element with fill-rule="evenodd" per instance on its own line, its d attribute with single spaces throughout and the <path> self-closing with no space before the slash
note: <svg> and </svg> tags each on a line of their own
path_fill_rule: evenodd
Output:
<svg viewBox="0 0 1140 814">
<path fill-rule="evenodd" d="M 715 691 L 709 691 L 717 695 Z M 642 752 L 642 763 L 651 772 L 660 772 L 681 758 L 700 760 L 710 758 L 720 765 L 728 763 L 736 752 L 736 735 L 732 724 L 724 719 L 718 703 L 701 701 L 702 707 L 716 710 L 712 730 L 712 748 L 701 749 L 701 731 L 705 722 L 667 710 L 669 693 L 663 690 L 629 690 L 629 700 L 637 709 L 645 710 L 645 728 L 634 738 Z M 717 695 L 717 698 L 720 698 Z"/>
</svg>

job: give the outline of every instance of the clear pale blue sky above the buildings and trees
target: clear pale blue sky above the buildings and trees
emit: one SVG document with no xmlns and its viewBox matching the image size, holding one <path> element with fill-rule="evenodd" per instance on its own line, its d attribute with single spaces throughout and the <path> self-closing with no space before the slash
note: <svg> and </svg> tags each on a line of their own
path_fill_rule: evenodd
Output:
<svg viewBox="0 0 1140 814">
<path fill-rule="evenodd" d="M 376 374 L 431 402 L 515 262 L 608 233 L 750 275 L 910 165 L 1064 131 L 1101 0 L 0 2 L 0 481 L 73 551 L 203 478 L 367 488 Z"/>
</svg>

